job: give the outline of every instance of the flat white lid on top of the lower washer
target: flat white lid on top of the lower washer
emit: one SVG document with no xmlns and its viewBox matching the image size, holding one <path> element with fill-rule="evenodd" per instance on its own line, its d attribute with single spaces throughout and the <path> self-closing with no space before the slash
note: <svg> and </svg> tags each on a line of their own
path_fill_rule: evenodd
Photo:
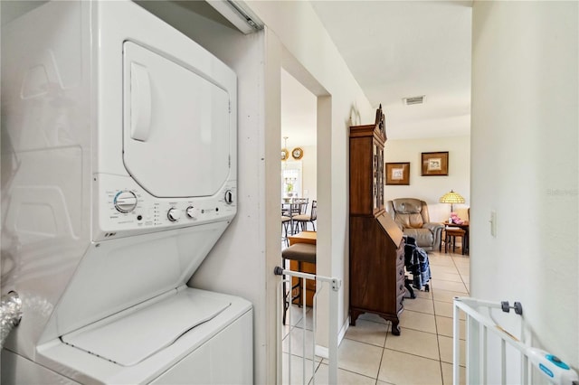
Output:
<svg viewBox="0 0 579 385">
<path fill-rule="evenodd" d="M 62 342 L 119 365 L 133 366 L 230 305 L 224 298 L 183 290 L 153 305 L 128 310 L 128 315 L 112 315 L 97 324 L 64 334 Z"/>
</svg>

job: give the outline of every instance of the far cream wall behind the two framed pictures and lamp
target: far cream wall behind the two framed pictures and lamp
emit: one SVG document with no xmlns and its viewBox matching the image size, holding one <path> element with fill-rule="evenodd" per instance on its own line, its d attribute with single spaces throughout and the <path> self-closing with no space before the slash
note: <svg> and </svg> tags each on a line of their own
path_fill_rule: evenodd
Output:
<svg viewBox="0 0 579 385">
<path fill-rule="evenodd" d="M 422 176 L 422 153 L 436 151 L 449 152 L 449 174 Z M 446 192 L 454 190 L 465 199 L 464 204 L 454 205 L 454 211 L 460 218 L 467 218 L 466 211 L 470 206 L 470 136 L 389 139 L 384 146 L 384 162 L 410 162 L 410 185 L 384 186 L 384 200 L 422 199 L 428 203 L 431 221 L 440 222 L 448 220 L 451 205 L 439 203 L 438 200 Z"/>
</svg>

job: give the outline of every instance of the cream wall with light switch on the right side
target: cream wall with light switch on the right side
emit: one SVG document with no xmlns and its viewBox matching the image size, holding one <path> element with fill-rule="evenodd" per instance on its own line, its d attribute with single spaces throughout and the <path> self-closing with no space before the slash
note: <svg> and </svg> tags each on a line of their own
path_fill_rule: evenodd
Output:
<svg viewBox="0 0 579 385">
<path fill-rule="evenodd" d="M 520 301 L 535 344 L 575 370 L 578 6 L 474 3 L 470 174 L 471 295 Z"/>
</svg>

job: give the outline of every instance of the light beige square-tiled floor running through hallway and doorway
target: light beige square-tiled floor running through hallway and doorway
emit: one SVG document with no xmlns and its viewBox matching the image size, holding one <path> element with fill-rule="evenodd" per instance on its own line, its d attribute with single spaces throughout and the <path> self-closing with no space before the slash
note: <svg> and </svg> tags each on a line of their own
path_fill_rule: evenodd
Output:
<svg viewBox="0 0 579 385">
<path fill-rule="evenodd" d="M 360 315 L 356 326 L 348 328 L 338 348 L 338 383 L 452 383 L 452 299 L 454 296 L 469 295 L 470 259 L 460 254 L 432 252 L 429 253 L 429 261 L 432 270 L 430 292 L 415 290 L 417 298 L 404 300 L 401 335 L 393 335 L 390 323 L 377 315 Z M 311 341 L 311 313 L 308 308 L 304 323 L 302 309 L 292 311 L 291 326 L 284 326 L 284 383 L 288 383 L 289 358 L 291 383 L 302 383 L 304 380 L 299 348 L 304 337 L 306 342 Z M 291 354 L 288 353 L 289 339 Z M 315 371 L 316 383 L 327 383 L 327 360 L 316 357 L 312 362 L 312 356 L 312 352 L 306 353 L 305 382 L 311 383 L 311 374 Z M 463 357 L 461 362 L 464 362 Z M 463 379 L 460 382 L 463 383 Z"/>
</svg>

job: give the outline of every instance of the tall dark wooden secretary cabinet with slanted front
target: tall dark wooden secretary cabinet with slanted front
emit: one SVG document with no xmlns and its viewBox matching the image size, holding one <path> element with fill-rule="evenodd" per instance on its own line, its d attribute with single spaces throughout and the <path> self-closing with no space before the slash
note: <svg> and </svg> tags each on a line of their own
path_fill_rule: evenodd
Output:
<svg viewBox="0 0 579 385">
<path fill-rule="evenodd" d="M 373 313 L 392 321 L 400 334 L 403 311 L 404 241 L 402 230 L 384 210 L 382 106 L 374 125 L 350 127 L 350 324 Z"/>
</svg>

